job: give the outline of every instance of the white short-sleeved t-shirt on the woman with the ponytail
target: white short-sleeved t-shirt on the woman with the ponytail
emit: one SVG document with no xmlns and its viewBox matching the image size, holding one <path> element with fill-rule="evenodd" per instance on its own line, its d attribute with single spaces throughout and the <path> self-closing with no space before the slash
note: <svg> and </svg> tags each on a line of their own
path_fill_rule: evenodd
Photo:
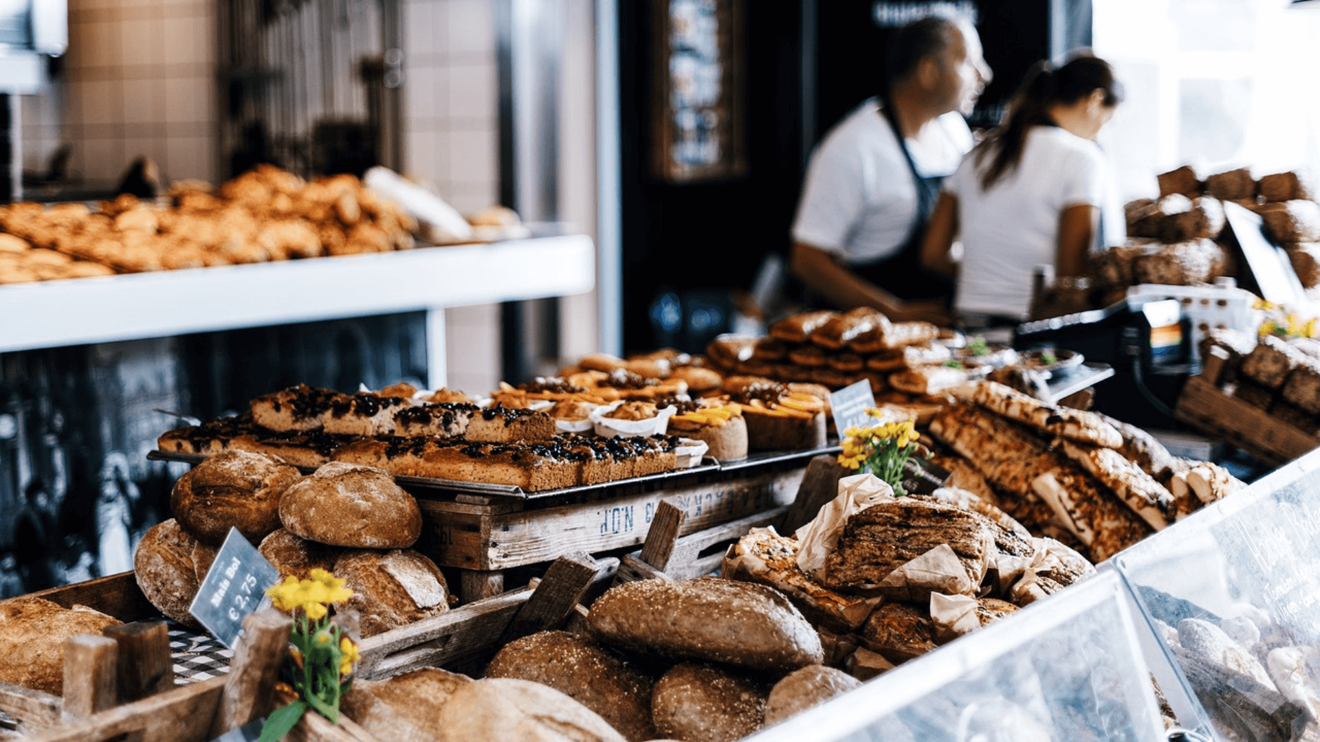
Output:
<svg viewBox="0 0 1320 742">
<path fill-rule="evenodd" d="M 990 165 L 990 157 L 983 166 Z M 1101 209 L 1104 244 L 1122 242 L 1122 211 L 1114 214 L 1113 178 L 1096 143 L 1059 127 L 1035 127 L 1018 168 L 981 189 L 975 156 L 944 181 L 958 199 L 962 265 L 954 306 L 960 312 L 1026 318 L 1036 265 L 1055 265 L 1059 217 L 1077 205 Z M 1117 230 L 1117 234 L 1115 234 Z M 1117 242 L 1115 242 L 1117 240 Z"/>
</svg>

